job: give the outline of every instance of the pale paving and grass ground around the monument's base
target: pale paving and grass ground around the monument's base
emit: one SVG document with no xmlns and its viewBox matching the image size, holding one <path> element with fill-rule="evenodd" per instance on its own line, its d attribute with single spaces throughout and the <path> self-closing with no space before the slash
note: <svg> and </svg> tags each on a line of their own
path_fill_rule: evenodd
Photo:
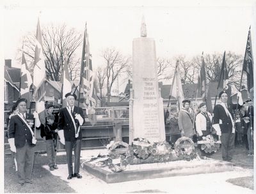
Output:
<svg viewBox="0 0 256 194">
<path fill-rule="evenodd" d="M 104 154 L 104 150 L 82 151 L 82 158 Z M 245 184 L 237 186 L 228 183 L 228 179 L 245 179 L 244 183 L 252 179 L 253 158 L 246 155 L 243 147 L 237 147 L 237 164 L 234 171 L 212 174 L 186 175 L 179 177 L 164 177 L 158 179 L 144 179 L 140 181 L 127 181 L 124 183 L 107 184 L 104 181 L 81 170 L 83 179 L 67 180 L 67 163 L 65 153 L 58 153 L 58 170 L 50 171 L 46 156 L 36 156 L 33 171 L 33 184 L 20 187 L 16 183 L 17 177 L 10 166 L 10 156 L 4 162 L 4 192 L 5 193 L 253 193 L 245 188 Z M 220 157 L 216 153 L 211 158 Z M 242 162 L 243 161 L 243 162 Z M 248 179 L 250 177 L 250 179 Z"/>
</svg>

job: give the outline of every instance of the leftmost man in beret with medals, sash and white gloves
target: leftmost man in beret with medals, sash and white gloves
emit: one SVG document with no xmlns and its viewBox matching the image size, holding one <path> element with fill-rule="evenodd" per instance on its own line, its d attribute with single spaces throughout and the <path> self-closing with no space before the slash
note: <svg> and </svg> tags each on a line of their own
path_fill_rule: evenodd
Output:
<svg viewBox="0 0 256 194">
<path fill-rule="evenodd" d="M 38 113 L 27 113 L 27 100 L 20 98 L 16 105 L 19 114 L 12 116 L 10 119 L 10 129 L 8 139 L 11 151 L 15 152 L 19 183 L 31 184 L 31 174 L 35 158 L 36 139 L 34 134 L 35 126 L 40 127 Z"/>
</svg>

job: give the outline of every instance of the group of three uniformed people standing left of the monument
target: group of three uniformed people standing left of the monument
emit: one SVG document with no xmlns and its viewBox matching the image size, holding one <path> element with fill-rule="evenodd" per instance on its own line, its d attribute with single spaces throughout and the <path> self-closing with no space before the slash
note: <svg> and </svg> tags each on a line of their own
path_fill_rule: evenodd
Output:
<svg viewBox="0 0 256 194">
<path fill-rule="evenodd" d="M 19 184 L 32 184 L 31 174 L 35 159 L 35 130 L 40 129 L 40 135 L 44 139 L 49 170 L 58 169 L 56 164 L 56 145 L 58 135 L 60 142 L 65 144 L 68 164 L 68 177 L 72 179 L 82 178 L 79 174 L 81 138 L 80 126 L 84 123 L 82 108 L 75 106 L 76 94 L 67 93 L 67 107 L 61 108 L 59 114 L 54 114 L 54 106 L 45 103 L 45 111 L 38 114 L 27 112 L 27 100 L 20 98 L 12 108 L 7 118 L 6 138 L 10 144 L 13 165 L 17 165 Z M 72 150 L 74 150 L 74 171 L 72 167 Z M 73 173 L 74 172 L 74 173 Z"/>
</svg>

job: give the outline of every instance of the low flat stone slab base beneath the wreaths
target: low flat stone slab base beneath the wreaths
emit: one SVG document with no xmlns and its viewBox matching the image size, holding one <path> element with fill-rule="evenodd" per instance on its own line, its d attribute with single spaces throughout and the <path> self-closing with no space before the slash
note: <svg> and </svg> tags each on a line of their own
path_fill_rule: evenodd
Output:
<svg viewBox="0 0 256 194">
<path fill-rule="evenodd" d="M 141 179 L 231 171 L 234 170 L 234 163 L 207 158 L 206 160 L 195 159 L 192 161 L 129 165 L 122 172 L 111 172 L 108 167 L 95 167 L 86 162 L 82 162 L 82 167 L 106 183 L 120 183 Z"/>
</svg>

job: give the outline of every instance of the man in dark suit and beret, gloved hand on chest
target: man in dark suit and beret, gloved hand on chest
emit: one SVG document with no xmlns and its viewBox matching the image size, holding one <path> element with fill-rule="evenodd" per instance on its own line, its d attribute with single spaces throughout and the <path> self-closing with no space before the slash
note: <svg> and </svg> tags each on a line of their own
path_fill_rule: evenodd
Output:
<svg viewBox="0 0 256 194">
<path fill-rule="evenodd" d="M 64 131 L 65 149 L 67 153 L 68 162 L 68 179 L 77 177 L 81 179 L 79 174 L 80 167 L 80 153 L 81 153 L 81 139 L 82 133 L 80 126 L 84 123 L 83 109 L 75 106 L 76 94 L 67 93 L 67 107 L 60 110 L 59 130 Z M 72 149 L 74 149 L 74 174 L 72 167 Z"/>
</svg>

